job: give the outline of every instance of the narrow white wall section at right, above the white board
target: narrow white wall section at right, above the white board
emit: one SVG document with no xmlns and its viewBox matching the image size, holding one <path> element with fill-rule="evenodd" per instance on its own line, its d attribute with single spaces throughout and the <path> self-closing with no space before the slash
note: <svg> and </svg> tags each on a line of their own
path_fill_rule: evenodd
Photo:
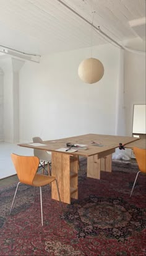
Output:
<svg viewBox="0 0 146 256">
<path fill-rule="evenodd" d="M 145 55 L 124 51 L 124 105 L 127 136 L 132 135 L 134 104 L 145 104 Z"/>
</svg>

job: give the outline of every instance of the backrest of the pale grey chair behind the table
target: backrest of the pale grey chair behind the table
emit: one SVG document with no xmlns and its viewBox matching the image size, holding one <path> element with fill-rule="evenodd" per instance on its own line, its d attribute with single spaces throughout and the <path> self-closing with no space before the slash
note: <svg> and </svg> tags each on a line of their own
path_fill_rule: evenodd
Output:
<svg viewBox="0 0 146 256">
<path fill-rule="evenodd" d="M 33 137 L 33 143 L 42 143 L 42 139 L 40 137 Z M 51 162 L 51 155 L 48 154 L 45 150 L 41 149 L 33 149 L 34 156 L 37 156 L 40 160 Z"/>
</svg>

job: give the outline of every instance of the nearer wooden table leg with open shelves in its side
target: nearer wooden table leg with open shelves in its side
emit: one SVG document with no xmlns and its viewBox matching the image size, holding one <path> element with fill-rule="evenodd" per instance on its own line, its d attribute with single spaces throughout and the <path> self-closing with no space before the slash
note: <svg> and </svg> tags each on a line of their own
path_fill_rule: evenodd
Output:
<svg viewBox="0 0 146 256">
<path fill-rule="evenodd" d="M 71 198 L 78 198 L 78 158 L 62 152 L 52 152 L 51 170 L 58 180 L 61 201 L 71 203 Z M 56 184 L 51 185 L 51 198 L 58 200 Z"/>
</svg>

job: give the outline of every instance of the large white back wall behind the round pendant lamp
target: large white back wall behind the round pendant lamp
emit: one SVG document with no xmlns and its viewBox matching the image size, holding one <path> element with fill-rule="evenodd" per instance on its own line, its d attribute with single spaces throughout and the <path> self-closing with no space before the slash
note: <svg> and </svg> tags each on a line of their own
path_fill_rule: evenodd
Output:
<svg viewBox="0 0 146 256">
<path fill-rule="evenodd" d="M 93 56 L 105 68 L 96 84 L 85 84 L 77 74 L 80 62 L 90 58 L 90 48 L 43 56 L 40 64 L 24 64 L 19 81 L 20 142 L 33 136 L 115 134 L 119 49 L 94 47 Z"/>
</svg>

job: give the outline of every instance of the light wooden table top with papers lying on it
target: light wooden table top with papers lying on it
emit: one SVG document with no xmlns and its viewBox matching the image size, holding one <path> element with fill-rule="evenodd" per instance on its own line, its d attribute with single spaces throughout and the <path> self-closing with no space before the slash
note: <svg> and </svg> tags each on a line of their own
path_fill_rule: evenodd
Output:
<svg viewBox="0 0 146 256">
<path fill-rule="evenodd" d="M 19 144 L 19 146 L 25 148 L 35 148 L 45 151 L 58 151 L 60 148 L 67 148 L 66 143 L 72 144 L 85 144 L 87 149 L 77 149 L 76 152 L 63 152 L 64 154 L 77 155 L 77 156 L 93 156 L 98 154 L 98 157 L 104 157 L 105 155 L 112 154 L 115 148 L 118 148 L 119 143 L 127 144 L 132 141 L 136 141 L 137 138 L 128 137 L 128 136 L 113 136 L 113 135 L 97 135 L 97 134 L 88 134 L 80 135 L 63 139 L 55 139 L 50 141 L 42 141 L 42 144 L 45 146 L 34 146 L 33 143 L 28 144 Z M 100 143 L 98 146 L 93 145 L 92 143 Z M 61 152 L 61 151 L 59 151 Z M 105 154 L 105 155 L 104 155 Z"/>
</svg>

